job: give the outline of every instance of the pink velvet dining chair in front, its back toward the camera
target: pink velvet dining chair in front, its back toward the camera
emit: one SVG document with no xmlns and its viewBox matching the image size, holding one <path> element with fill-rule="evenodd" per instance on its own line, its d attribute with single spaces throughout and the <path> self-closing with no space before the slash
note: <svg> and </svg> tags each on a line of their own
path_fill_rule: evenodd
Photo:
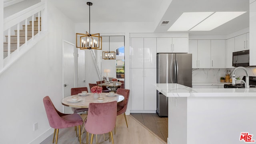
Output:
<svg viewBox="0 0 256 144">
<path fill-rule="evenodd" d="M 87 120 L 84 124 L 86 129 L 86 144 L 88 144 L 89 133 L 91 136 L 91 144 L 94 134 L 108 133 L 114 144 L 112 130 L 116 124 L 117 102 L 106 103 L 90 103 Z M 110 140 L 110 138 L 109 138 Z"/>
</svg>

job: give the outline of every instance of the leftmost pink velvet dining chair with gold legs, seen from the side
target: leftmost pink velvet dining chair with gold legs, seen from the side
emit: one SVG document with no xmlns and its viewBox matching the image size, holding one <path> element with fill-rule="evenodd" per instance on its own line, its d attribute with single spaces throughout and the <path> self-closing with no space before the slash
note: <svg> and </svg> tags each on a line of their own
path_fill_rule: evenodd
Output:
<svg viewBox="0 0 256 144">
<path fill-rule="evenodd" d="M 72 126 L 78 126 L 79 128 L 79 140 L 81 144 L 81 126 L 83 124 L 82 118 L 79 114 L 63 114 L 59 112 L 52 103 L 49 96 L 43 98 L 44 108 L 51 128 L 54 128 L 53 140 L 56 133 L 56 144 L 58 142 L 58 133 L 60 128 L 69 128 Z"/>
</svg>

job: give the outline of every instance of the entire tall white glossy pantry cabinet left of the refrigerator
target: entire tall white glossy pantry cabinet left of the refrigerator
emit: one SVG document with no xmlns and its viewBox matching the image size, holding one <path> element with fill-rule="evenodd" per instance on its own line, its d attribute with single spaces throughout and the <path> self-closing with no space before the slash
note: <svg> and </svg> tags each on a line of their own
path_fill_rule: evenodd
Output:
<svg viewBox="0 0 256 144">
<path fill-rule="evenodd" d="M 131 110 L 155 112 L 156 38 L 131 38 L 130 42 Z"/>
</svg>

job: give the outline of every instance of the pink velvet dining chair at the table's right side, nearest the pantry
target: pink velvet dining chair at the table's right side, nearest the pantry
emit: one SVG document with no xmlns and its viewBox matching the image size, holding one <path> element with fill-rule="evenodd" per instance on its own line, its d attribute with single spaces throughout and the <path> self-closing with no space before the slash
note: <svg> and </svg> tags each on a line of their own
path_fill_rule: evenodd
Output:
<svg viewBox="0 0 256 144">
<path fill-rule="evenodd" d="M 116 115 L 118 116 L 120 114 L 124 114 L 124 119 L 125 119 L 125 122 L 126 122 L 126 126 L 128 128 L 128 123 L 127 123 L 127 120 L 126 120 L 125 112 L 126 112 L 127 105 L 128 105 L 130 90 L 123 89 L 123 88 L 118 88 L 116 90 L 116 94 L 120 94 L 120 95 L 124 96 L 124 101 L 117 104 L 117 114 Z M 116 134 L 116 127 L 115 127 L 115 134 Z"/>
</svg>

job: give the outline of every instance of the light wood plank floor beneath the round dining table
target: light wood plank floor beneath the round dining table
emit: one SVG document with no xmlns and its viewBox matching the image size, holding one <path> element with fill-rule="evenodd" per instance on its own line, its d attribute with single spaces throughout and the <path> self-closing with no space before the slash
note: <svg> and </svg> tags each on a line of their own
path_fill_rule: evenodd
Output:
<svg viewBox="0 0 256 144">
<path fill-rule="evenodd" d="M 128 128 L 124 120 L 124 115 L 121 114 L 116 118 L 116 135 L 114 135 L 114 144 L 166 144 L 164 140 L 148 130 L 138 120 L 130 115 L 127 115 Z M 52 130 L 53 132 L 54 130 Z M 105 134 L 107 137 L 108 134 Z M 52 144 L 53 134 L 46 138 L 41 144 Z M 167 138 L 166 138 L 167 139 Z M 90 140 L 90 137 L 89 137 Z M 96 143 L 94 136 L 94 144 Z M 103 135 L 98 135 L 98 142 L 103 141 Z M 86 142 L 86 133 L 82 136 L 82 142 Z M 54 142 L 55 144 L 55 142 Z M 78 138 L 74 131 L 74 127 L 64 128 L 59 130 L 58 144 L 79 144 Z M 102 144 L 112 144 L 109 140 L 104 141 Z"/>
</svg>

